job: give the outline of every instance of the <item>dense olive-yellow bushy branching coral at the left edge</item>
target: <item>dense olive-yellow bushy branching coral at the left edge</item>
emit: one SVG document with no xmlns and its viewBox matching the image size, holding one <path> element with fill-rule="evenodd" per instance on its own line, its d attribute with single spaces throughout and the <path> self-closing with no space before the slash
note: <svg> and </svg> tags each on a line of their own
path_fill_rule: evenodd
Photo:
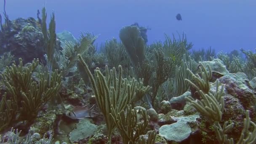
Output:
<svg viewBox="0 0 256 144">
<path fill-rule="evenodd" d="M 5 95 L 1 100 L 0 131 L 11 123 L 32 122 L 41 107 L 58 94 L 61 88 L 61 73 L 59 74 L 58 70 L 55 70 L 51 76 L 49 73 L 47 75 L 40 74 L 39 80 L 34 81 L 32 72 L 38 63 L 39 60 L 34 59 L 30 66 L 23 67 L 22 59 L 19 59 L 19 66 L 16 66 L 14 62 L 12 66 L 6 67 L 1 74 L 11 98 L 7 99 Z"/>
</svg>

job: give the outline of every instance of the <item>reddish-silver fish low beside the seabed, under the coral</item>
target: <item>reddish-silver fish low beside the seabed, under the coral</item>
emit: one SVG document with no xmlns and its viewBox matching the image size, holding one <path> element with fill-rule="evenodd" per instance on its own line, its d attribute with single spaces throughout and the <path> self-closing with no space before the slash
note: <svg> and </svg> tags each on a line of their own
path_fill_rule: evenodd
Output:
<svg viewBox="0 0 256 144">
<path fill-rule="evenodd" d="M 87 106 L 88 105 L 85 105 L 84 107 L 76 106 L 67 114 L 67 116 L 73 120 L 82 120 L 85 117 L 95 117 L 95 115 L 98 114 L 97 112 L 93 112 L 95 104 L 89 109 Z"/>
</svg>

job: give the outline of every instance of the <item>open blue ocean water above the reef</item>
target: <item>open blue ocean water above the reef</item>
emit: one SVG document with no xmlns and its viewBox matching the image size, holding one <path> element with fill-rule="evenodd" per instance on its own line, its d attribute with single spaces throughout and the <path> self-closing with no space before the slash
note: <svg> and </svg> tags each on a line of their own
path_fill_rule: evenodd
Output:
<svg viewBox="0 0 256 144">
<path fill-rule="evenodd" d="M 99 35 L 96 43 L 116 37 L 126 25 L 149 27 L 148 44 L 164 40 L 164 34 L 187 35 L 194 49 L 232 51 L 256 48 L 255 0 L 6 0 L 11 20 L 36 18 L 46 3 L 48 17 L 56 14 L 56 31 L 80 31 Z M 0 1 L 3 12 L 3 0 Z M 175 16 L 181 13 L 182 21 Z M 48 19 L 49 20 L 49 19 Z"/>
</svg>

